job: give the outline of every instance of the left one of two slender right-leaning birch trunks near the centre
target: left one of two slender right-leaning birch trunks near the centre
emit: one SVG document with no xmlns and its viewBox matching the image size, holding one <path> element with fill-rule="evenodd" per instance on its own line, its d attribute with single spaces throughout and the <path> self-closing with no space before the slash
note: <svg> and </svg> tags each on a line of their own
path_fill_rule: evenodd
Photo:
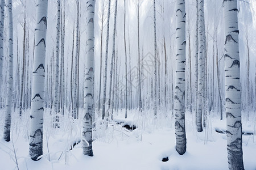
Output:
<svg viewBox="0 0 256 170">
<path fill-rule="evenodd" d="M 106 83 L 107 83 L 107 74 L 108 74 L 108 53 L 109 53 L 109 19 L 110 19 L 110 3 L 108 7 L 108 24 L 106 32 L 106 54 L 105 54 L 105 73 L 104 73 L 104 90 L 103 90 L 103 103 L 102 103 L 102 120 L 105 118 L 105 108 L 106 108 Z"/>
</svg>

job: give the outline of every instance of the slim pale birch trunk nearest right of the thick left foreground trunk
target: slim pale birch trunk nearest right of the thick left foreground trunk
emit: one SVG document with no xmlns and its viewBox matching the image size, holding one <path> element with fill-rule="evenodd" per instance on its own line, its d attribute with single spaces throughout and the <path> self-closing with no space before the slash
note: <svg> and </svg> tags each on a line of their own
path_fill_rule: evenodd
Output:
<svg viewBox="0 0 256 170">
<path fill-rule="evenodd" d="M 56 25 L 56 56 L 55 56 L 55 87 L 53 106 L 55 113 L 60 112 L 60 89 L 59 89 L 59 72 L 60 72 L 60 0 L 57 0 L 57 25 Z"/>
</svg>

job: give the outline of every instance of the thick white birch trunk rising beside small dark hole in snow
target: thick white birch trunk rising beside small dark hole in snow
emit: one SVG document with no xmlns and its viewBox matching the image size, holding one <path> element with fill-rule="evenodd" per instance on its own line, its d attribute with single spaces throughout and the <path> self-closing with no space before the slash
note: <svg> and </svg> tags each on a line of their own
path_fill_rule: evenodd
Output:
<svg viewBox="0 0 256 170">
<path fill-rule="evenodd" d="M 185 66 L 186 66 L 186 39 L 185 39 L 185 1 L 176 1 L 176 84 L 175 84 L 175 134 L 176 150 L 180 155 L 186 151 L 186 134 L 185 134 Z"/>
</svg>

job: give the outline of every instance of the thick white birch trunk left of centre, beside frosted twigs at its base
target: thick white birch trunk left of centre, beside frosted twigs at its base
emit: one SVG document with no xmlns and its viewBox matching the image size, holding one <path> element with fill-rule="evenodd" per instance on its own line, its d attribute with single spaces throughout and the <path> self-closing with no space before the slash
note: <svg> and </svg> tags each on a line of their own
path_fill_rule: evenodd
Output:
<svg viewBox="0 0 256 170">
<path fill-rule="evenodd" d="M 85 155 L 93 156 L 92 150 L 92 118 L 94 108 L 94 9 L 95 1 L 86 1 L 86 57 L 84 80 L 84 124 L 82 149 Z M 85 141 L 86 140 L 86 141 Z M 88 143 L 87 143 L 88 142 Z"/>
</svg>

